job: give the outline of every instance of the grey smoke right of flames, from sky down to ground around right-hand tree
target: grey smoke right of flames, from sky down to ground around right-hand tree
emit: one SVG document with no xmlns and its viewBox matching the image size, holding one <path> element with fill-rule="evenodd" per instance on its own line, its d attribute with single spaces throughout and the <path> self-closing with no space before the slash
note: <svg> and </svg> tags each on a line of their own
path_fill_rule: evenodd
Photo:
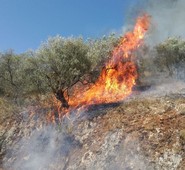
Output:
<svg viewBox="0 0 185 170">
<path fill-rule="evenodd" d="M 155 46 L 170 37 L 185 39 L 184 9 L 184 0 L 141 0 L 136 2 L 128 11 L 128 21 L 124 27 L 124 32 L 126 28 L 129 29 L 130 25 L 133 25 L 133 18 L 137 18 L 138 15 L 147 13 L 151 16 L 151 26 L 145 36 L 147 50 L 140 49 L 137 54 L 140 62 L 139 67 L 144 65 L 145 70 L 140 76 L 141 84 L 155 86 L 152 88 L 151 94 L 165 95 L 183 89 L 185 80 L 184 62 L 172 65 L 172 76 L 169 75 L 167 69 L 161 72 L 161 68 L 158 68 L 157 60 L 155 60 L 157 55 Z M 145 73 L 148 75 L 145 76 Z"/>
</svg>

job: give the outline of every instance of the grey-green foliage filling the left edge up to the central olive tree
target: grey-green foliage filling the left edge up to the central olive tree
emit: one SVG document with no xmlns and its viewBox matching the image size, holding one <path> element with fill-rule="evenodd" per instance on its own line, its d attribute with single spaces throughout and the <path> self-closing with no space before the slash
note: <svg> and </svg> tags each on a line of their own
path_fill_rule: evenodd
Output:
<svg viewBox="0 0 185 170">
<path fill-rule="evenodd" d="M 12 99 L 24 98 L 33 93 L 40 93 L 34 81 L 34 57 L 29 53 L 21 55 L 8 51 L 0 56 L 0 94 Z M 41 82 L 39 82 L 41 85 Z"/>
</svg>

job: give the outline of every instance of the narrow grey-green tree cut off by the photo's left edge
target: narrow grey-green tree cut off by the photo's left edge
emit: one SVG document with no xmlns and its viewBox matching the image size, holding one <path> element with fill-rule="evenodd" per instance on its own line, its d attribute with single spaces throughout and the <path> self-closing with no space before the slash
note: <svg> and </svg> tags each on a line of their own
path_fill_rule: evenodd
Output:
<svg viewBox="0 0 185 170">
<path fill-rule="evenodd" d="M 24 58 L 12 50 L 0 55 L 0 89 L 7 96 L 17 98 L 23 92 Z"/>
</svg>

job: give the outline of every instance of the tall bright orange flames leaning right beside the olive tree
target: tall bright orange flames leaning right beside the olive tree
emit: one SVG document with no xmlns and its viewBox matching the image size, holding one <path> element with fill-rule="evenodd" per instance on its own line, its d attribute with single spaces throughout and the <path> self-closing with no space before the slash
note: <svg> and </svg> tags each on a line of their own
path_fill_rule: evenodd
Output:
<svg viewBox="0 0 185 170">
<path fill-rule="evenodd" d="M 142 44 L 148 27 L 148 15 L 137 19 L 133 32 L 126 33 L 113 50 L 112 58 L 105 64 L 97 82 L 84 92 L 74 90 L 68 101 L 71 108 L 118 102 L 131 94 L 138 76 L 133 51 Z"/>
</svg>

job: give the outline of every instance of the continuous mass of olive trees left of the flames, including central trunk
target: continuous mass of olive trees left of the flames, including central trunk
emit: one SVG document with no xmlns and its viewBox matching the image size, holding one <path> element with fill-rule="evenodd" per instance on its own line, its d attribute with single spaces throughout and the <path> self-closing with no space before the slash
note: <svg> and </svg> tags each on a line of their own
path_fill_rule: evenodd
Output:
<svg viewBox="0 0 185 170">
<path fill-rule="evenodd" d="M 53 93 L 67 108 L 64 93 L 86 77 L 86 83 L 95 81 L 117 42 L 114 35 L 88 41 L 56 36 L 35 52 L 5 52 L 0 55 L 0 94 L 17 101 L 21 97 Z"/>
</svg>

